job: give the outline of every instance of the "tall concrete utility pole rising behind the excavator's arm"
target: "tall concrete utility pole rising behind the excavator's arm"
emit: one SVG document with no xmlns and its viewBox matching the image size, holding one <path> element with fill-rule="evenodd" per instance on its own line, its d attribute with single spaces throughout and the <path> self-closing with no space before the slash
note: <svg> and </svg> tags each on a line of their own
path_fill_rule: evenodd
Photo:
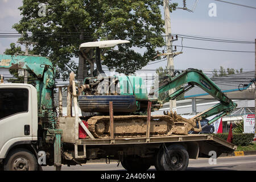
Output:
<svg viewBox="0 0 256 182">
<path fill-rule="evenodd" d="M 167 47 L 167 68 L 168 73 L 174 75 L 174 56 L 172 53 L 172 41 L 171 41 L 171 19 L 170 19 L 170 6 L 168 1 L 163 0 L 164 7 L 164 27 L 166 29 L 166 47 Z M 169 95 L 174 93 L 175 90 L 171 89 Z M 176 100 L 170 100 L 170 111 L 177 111 Z"/>
</svg>

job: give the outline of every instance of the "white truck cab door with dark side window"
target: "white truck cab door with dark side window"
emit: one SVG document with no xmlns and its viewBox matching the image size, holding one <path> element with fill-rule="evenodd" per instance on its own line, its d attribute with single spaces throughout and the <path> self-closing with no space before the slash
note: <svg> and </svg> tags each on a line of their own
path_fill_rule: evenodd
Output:
<svg viewBox="0 0 256 182">
<path fill-rule="evenodd" d="M 30 86 L 0 87 L 0 159 L 16 142 L 32 140 Z"/>
</svg>

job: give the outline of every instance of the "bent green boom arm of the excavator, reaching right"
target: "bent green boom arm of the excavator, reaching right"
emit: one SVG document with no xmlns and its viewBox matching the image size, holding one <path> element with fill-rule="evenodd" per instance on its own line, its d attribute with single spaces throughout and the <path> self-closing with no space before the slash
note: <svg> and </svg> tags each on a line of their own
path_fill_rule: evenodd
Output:
<svg viewBox="0 0 256 182">
<path fill-rule="evenodd" d="M 199 121 L 201 119 L 221 113 L 208 122 L 208 124 L 211 124 L 218 118 L 230 113 L 237 107 L 236 103 L 226 97 L 224 93 L 221 92 L 221 89 L 218 88 L 218 86 L 214 84 L 210 78 L 208 78 L 202 71 L 198 69 L 187 69 L 175 77 L 168 76 L 166 79 L 164 79 L 164 81 L 159 82 L 159 89 L 156 90 L 155 93 L 158 92 L 160 94 L 184 84 L 187 85 L 176 90 L 176 92 L 172 93 L 167 99 L 163 100 L 163 103 L 169 100 L 174 100 L 176 97 L 180 96 L 184 92 L 187 92 L 195 85 L 199 86 L 201 89 L 205 90 L 205 92 L 209 93 L 211 96 L 220 101 L 220 103 L 214 105 L 210 109 L 205 110 L 191 118 L 192 120 L 195 119 L 195 121 Z"/>
</svg>

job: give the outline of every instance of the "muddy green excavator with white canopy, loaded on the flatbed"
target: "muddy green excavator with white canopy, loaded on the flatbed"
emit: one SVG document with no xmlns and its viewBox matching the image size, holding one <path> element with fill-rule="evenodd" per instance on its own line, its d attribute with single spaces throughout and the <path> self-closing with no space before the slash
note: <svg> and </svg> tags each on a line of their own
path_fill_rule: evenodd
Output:
<svg viewBox="0 0 256 182">
<path fill-rule="evenodd" d="M 209 125 L 218 118 L 229 114 L 237 104 L 225 96 L 221 89 L 198 69 L 187 69 L 177 76 L 166 76 L 154 85 L 154 90 L 147 93 L 147 85 L 138 76 L 106 76 L 100 63 L 100 48 L 117 46 L 127 43 L 126 40 L 107 40 L 89 42 L 80 45 L 80 51 L 96 48 L 96 65 L 98 75 L 85 78 L 80 86 L 81 96 L 78 97 L 82 116 L 88 122 L 89 130 L 96 138 L 109 138 L 109 101 L 113 102 L 115 137 L 139 137 L 146 135 L 148 102 L 152 110 L 157 110 L 165 102 L 174 100 L 193 86 L 199 86 L 216 98 L 220 103 L 205 110 L 195 117 L 185 119 L 177 113 L 151 116 L 150 134 L 152 136 L 168 136 L 172 134 L 188 135 L 189 131 L 199 133 L 202 128 L 201 119 L 217 115 L 209 121 Z M 185 85 L 185 86 L 183 86 Z M 179 88 L 163 101 L 159 94 Z M 198 122 L 198 128 L 197 126 Z"/>
</svg>

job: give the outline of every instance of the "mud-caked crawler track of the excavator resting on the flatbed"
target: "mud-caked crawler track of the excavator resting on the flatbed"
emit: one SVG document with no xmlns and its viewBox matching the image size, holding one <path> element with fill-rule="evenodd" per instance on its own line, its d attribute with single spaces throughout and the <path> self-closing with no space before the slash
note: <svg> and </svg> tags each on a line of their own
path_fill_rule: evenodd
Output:
<svg viewBox="0 0 256 182">
<path fill-rule="evenodd" d="M 110 117 L 94 116 L 87 120 L 89 130 L 95 138 L 110 138 Z M 192 129 L 188 122 L 170 115 L 151 116 L 150 135 L 168 136 L 171 134 L 187 135 Z M 115 138 L 145 137 L 147 130 L 146 115 L 116 115 L 114 116 Z"/>
</svg>

